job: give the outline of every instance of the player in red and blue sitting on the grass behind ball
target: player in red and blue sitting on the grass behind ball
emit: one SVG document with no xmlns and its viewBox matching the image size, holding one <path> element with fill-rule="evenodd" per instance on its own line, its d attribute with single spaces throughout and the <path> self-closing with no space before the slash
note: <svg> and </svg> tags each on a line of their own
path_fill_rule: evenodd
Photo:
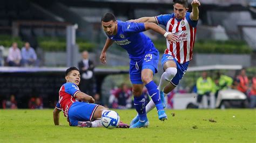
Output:
<svg viewBox="0 0 256 143">
<path fill-rule="evenodd" d="M 100 118 L 104 110 L 108 109 L 93 104 L 95 100 L 79 90 L 79 70 L 76 67 L 70 67 L 66 70 L 65 79 L 66 83 L 59 90 L 59 101 L 53 110 L 54 124 L 59 125 L 59 112 L 63 111 L 70 126 L 102 127 Z M 76 99 L 82 102 L 78 102 Z M 129 125 L 120 123 L 118 127 L 128 128 Z"/>
</svg>

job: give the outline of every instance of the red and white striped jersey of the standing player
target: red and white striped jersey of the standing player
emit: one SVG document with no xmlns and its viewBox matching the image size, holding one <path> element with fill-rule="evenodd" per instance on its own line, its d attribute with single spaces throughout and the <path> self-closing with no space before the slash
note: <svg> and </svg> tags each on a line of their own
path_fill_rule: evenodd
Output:
<svg viewBox="0 0 256 143">
<path fill-rule="evenodd" d="M 166 40 L 165 54 L 170 54 L 179 63 L 192 60 L 194 41 L 197 32 L 197 22 L 191 20 L 190 12 L 183 19 L 176 19 L 174 13 L 156 16 L 157 24 L 166 26 L 166 31 L 178 36 L 177 42 L 171 44 Z"/>
</svg>

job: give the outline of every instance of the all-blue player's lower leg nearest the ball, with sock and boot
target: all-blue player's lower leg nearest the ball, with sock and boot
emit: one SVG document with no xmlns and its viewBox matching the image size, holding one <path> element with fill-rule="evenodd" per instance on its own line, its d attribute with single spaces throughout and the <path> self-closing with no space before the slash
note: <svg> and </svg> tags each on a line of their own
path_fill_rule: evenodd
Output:
<svg viewBox="0 0 256 143">
<path fill-rule="evenodd" d="M 146 109 L 145 109 L 145 96 L 143 94 L 143 84 L 132 84 L 132 93 L 134 96 L 134 106 L 136 111 L 138 112 L 138 116 L 136 116 L 131 121 L 130 128 L 138 128 L 138 127 L 147 127 L 149 125 L 149 121 L 147 120 Z"/>
</svg>

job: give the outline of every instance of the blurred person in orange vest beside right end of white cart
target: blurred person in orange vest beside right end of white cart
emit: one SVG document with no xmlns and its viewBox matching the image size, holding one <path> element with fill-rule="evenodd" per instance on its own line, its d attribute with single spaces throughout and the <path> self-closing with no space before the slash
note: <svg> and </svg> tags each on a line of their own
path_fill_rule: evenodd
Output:
<svg viewBox="0 0 256 143">
<path fill-rule="evenodd" d="M 246 94 L 248 90 L 249 80 L 246 76 L 246 70 L 243 68 L 240 71 L 240 74 L 235 79 L 235 86 L 237 87 L 237 90 L 244 92 Z"/>
</svg>

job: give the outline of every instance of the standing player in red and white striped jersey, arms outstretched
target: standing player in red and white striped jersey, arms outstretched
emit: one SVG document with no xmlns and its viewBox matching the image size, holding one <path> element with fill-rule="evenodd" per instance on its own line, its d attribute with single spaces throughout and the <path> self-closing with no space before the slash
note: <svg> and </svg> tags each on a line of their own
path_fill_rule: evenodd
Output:
<svg viewBox="0 0 256 143">
<path fill-rule="evenodd" d="M 192 1 L 191 13 L 187 12 L 187 0 L 173 0 L 173 3 L 174 13 L 129 20 L 129 22 L 164 25 L 166 26 L 166 31 L 168 31 L 165 35 L 174 34 L 178 38 L 171 43 L 166 41 L 167 48 L 161 59 L 164 73 L 161 75 L 158 89 L 164 107 L 166 106 L 164 93 L 167 94 L 177 87 L 187 70 L 189 61 L 192 60 L 192 52 L 199 18 L 199 1 Z M 154 106 L 154 103 L 150 101 L 149 104 L 146 105 L 146 112 L 151 111 Z M 139 118 L 136 116 L 132 120 L 131 125 L 137 123 L 138 120 Z"/>
</svg>

